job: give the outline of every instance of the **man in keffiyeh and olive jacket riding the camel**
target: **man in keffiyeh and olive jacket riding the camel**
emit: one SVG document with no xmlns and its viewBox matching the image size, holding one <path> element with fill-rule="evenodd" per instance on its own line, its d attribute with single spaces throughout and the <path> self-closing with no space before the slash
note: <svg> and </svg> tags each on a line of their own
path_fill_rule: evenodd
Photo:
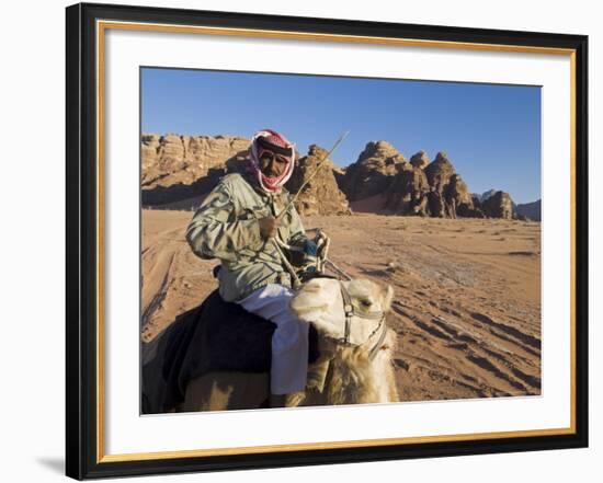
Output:
<svg viewBox="0 0 603 483">
<path fill-rule="evenodd" d="M 286 394 L 303 391 L 308 370 L 308 323 L 289 310 L 293 280 L 278 248 L 278 241 L 297 246 L 307 257 L 317 251 L 284 188 L 294 165 L 292 142 L 271 129 L 258 131 L 249 148 L 249 172 L 224 176 L 186 230 L 197 256 L 220 260 L 221 298 L 276 325 L 271 405 L 283 405 Z"/>
</svg>

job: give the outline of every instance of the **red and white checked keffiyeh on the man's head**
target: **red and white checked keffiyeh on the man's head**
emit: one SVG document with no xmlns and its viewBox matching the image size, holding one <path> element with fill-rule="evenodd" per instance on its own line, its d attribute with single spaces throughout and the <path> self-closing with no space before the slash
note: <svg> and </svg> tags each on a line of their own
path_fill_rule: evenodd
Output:
<svg viewBox="0 0 603 483">
<path fill-rule="evenodd" d="M 283 173 L 277 177 L 269 177 L 260 169 L 260 159 L 264 151 L 271 151 L 287 159 L 288 163 Z M 269 193 L 278 193 L 288 181 L 295 164 L 295 145 L 283 135 L 272 129 L 262 129 L 255 133 L 249 148 L 249 171 L 255 176 L 262 189 Z"/>
</svg>

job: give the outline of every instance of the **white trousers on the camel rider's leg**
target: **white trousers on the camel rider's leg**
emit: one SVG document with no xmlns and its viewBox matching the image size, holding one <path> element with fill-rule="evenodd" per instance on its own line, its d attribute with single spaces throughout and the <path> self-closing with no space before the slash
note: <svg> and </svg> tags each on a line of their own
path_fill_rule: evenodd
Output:
<svg viewBox="0 0 603 483">
<path fill-rule="evenodd" d="M 272 335 L 272 394 L 288 394 L 306 388 L 309 324 L 291 312 L 293 295 L 287 287 L 270 284 L 237 302 L 248 312 L 276 324 Z"/>
</svg>

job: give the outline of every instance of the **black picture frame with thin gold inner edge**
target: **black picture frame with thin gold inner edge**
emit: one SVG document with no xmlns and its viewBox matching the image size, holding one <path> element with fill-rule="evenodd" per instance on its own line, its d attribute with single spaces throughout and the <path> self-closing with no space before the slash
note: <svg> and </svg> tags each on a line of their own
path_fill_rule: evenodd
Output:
<svg viewBox="0 0 603 483">
<path fill-rule="evenodd" d="M 568 434 L 278 452 L 112 460 L 99 448 L 98 20 L 253 28 L 571 50 L 574 62 L 574 425 Z M 588 37 L 536 32 L 360 22 L 80 3 L 66 10 L 66 473 L 127 476 L 588 446 Z M 102 336 L 102 334 L 101 334 Z M 102 419 L 101 419 L 102 422 Z"/>
</svg>

